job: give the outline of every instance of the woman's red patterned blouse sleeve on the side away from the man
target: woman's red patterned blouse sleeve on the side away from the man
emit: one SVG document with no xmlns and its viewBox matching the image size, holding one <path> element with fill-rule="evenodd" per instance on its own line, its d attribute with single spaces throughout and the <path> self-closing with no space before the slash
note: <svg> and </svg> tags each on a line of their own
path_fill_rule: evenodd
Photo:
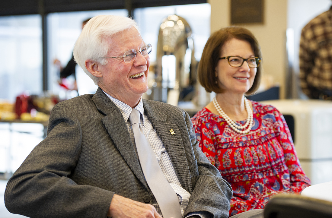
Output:
<svg viewBox="0 0 332 218">
<path fill-rule="evenodd" d="M 310 179 L 305 175 L 297 158 L 290 130 L 284 116 L 277 109 L 275 110 L 275 115 L 279 123 L 278 128 L 280 128 L 278 131 L 280 134 L 277 136 L 277 139 L 283 148 L 285 163 L 290 173 L 290 192 L 301 192 L 305 187 L 310 186 Z"/>
</svg>

